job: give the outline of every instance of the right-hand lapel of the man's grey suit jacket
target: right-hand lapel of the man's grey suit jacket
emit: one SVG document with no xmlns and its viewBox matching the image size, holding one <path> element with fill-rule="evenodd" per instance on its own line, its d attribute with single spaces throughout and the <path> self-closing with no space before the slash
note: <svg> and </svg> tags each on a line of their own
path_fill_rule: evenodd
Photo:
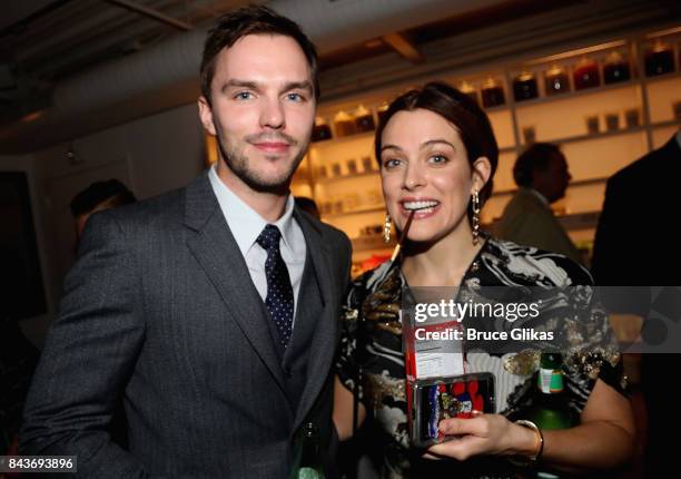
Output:
<svg viewBox="0 0 681 479">
<path fill-rule="evenodd" d="M 322 292 L 323 309 L 314 326 L 312 343 L 309 344 L 307 381 L 298 403 L 298 410 L 294 421 L 294 431 L 297 430 L 298 426 L 305 419 L 305 416 L 312 408 L 328 377 L 330 363 L 336 350 L 337 311 L 335 311 L 334 304 L 337 304 L 337 301 L 335 301 L 334 296 L 339 294 L 338 292 L 340 291 L 340 285 L 335 284 L 335 275 L 328 261 L 332 252 L 328 250 L 328 246 L 322 242 L 320 233 L 305 215 L 298 212 L 297 208 L 295 211 L 295 218 L 305 235 L 309 257 L 313 261 L 314 273 L 317 277 L 319 291 Z M 305 307 L 305 305 L 302 304 L 300 307 Z"/>
</svg>

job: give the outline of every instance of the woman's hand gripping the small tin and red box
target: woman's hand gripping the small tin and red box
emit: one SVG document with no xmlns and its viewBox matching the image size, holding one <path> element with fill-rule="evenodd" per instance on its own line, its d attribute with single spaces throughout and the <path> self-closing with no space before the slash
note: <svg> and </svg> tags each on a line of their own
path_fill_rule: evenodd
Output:
<svg viewBox="0 0 681 479">
<path fill-rule="evenodd" d="M 535 432 L 500 414 L 445 419 L 438 429 L 445 434 L 445 442 L 428 448 L 431 454 L 438 457 L 464 461 L 480 454 L 533 456 L 537 452 Z"/>
</svg>

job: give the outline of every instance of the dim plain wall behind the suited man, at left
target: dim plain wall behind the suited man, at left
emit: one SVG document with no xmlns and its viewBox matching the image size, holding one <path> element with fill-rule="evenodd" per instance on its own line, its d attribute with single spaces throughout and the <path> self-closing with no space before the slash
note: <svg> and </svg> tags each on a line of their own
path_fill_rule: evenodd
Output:
<svg viewBox="0 0 681 479">
<path fill-rule="evenodd" d="M 66 153 L 76 153 L 69 162 Z M 0 157 L 0 170 L 29 173 L 36 234 L 49 314 L 23 320 L 38 345 L 53 319 L 62 280 L 73 260 L 75 233 L 68 205 L 95 180 L 116 177 L 139 199 L 179 188 L 205 167 L 205 143 L 196 105 L 186 105 L 23 157 Z"/>
</svg>

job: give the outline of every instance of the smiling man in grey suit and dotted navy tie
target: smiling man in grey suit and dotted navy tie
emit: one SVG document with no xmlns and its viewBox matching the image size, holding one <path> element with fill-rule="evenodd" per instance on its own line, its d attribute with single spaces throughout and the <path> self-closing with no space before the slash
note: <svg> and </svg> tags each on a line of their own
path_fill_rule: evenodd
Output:
<svg viewBox="0 0 681 479">
<path fill-rule="evenodd" d="M 186 188 L 93 215 L 24 413 L 24 453 L 78 473 L 284 478 L 312 422 L 330 466 L 329 375 L 351 246 L 288 192 L 316 55 L 266 8 L 221 17 L 199 114 L 219 160 Z M 124 397 L 129 448 L 105 432 Z"/>
</svg>

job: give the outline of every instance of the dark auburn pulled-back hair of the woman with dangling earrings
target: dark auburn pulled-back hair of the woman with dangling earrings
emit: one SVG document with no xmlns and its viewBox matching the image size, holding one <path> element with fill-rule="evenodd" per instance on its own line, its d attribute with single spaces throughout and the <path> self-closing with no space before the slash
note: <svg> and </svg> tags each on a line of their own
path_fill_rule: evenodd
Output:
<svg viewBox="0 0 681 479">
<path fill-rule="evenodd" d="M 481 206 L 484 205 L 492 194 L 492 177 L 499 164 L 496 138 L 494 138 L 490 119 L 482 108 L 468 96 L 444 82 L 432 81 L 421 89 L 409 90 L 393 100 L 376 129 L 374 151 L 378 164 L 381 164 L 381 137 L 385 126 L 397 111 L 413 111 L 417 108 L 433 111 L 456 127 L 466 147 L 471 167 L 481 156 L 490 160 L 492 166 L 490 179 L 480 190 Z M 471 207 L 468 207 L 468 217 L 471 215 Z"/>
</svg>

